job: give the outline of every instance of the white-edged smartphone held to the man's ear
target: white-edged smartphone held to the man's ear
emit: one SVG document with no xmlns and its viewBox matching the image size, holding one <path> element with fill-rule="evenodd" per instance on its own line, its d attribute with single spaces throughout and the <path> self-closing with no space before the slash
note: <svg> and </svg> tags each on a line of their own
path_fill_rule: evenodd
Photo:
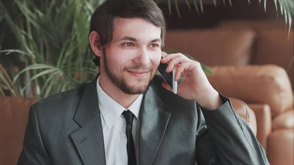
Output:
<svg viewBox="0 0 294 165">
<path fill-rule="evenodd" d="M 163 52 L 161 52 L 161 58 L 164 58 L 165 55 Z M 170 88 L 172 89 L 172 92 L 174 94 L 177 94 L 177 81 L 174 81 L 175 77 L 175 69 L 173 68 L 171 72 L 166 72 L 166 69 L 168 68 L 168 63 L 167 64 L 162 64 L 160 63 L 158 66 L 158 71 L 162 75 L 162 77 L 168 82 Z"/>
</svg>

